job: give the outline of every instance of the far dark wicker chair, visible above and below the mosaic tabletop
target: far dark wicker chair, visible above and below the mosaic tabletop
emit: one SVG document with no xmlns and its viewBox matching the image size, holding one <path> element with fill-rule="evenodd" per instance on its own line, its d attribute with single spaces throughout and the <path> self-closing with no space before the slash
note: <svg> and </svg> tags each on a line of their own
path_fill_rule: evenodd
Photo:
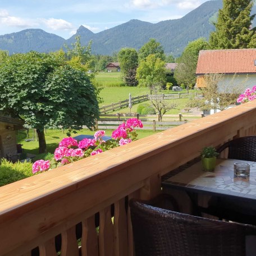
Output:
<svg viewBox="0 0 256 256">
<path fill-rule="evenodd" d="M 223 144 L 218 153 L 228 148 L 228 158 L 244 161 L 256 161 L 256 136 L 237 138 Z M 208 207 L 198 207 L 199 212 L 245 224 L 256 225 L 256 207 L 241 199 L 212 198 Z"/>
</svg>

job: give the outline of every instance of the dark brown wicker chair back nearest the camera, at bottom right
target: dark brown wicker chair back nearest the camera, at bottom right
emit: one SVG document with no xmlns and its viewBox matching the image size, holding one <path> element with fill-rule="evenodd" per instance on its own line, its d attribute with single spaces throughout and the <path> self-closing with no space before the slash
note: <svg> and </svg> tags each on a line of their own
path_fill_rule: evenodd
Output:
<svg viewBox="0 0 256 256">
<path fill-rule="evenodd" d="M 247 235 L 254 237 L 255 226 L 195 217 L 134 199 L 129 204 L 136 256 L 256 255 L 245 241 Z"/>
</svg>

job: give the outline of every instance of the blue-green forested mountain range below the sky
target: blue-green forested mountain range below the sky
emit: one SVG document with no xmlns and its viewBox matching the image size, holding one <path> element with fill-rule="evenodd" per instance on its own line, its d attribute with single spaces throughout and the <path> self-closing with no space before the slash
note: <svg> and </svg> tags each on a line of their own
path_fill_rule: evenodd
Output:
<svg viewBox="0 0 256 256">
<path fill-rule="evenodd" d="M 52 52 L 62 48 L 64 44 L 71 45 L 77 35 L 81 36 L 81 44 L 88 45 L 92 40 L 92 53 L 112 55 L 121 48 L 139 49 L 155 38 L 162 44 L 166 54 L 179 56 L 184 47 L 200 37 L 209 38 L 214 30 L 213 22 L 217 19 L 222 1 L 208 1 L 195 10 L 176 20 L 161 21 L 156 24 L 140 20 L 130 20 L 114 28 L 93 33 L 84 26 L 77 29 L 76 34 L 65 40 L 61 36 L 50 34 L 42 29 L 25 29 L 17 33 L 0 35 L 0 49 L 12 53 L 29 51 Z M 256 12 L 255 6 L 252 13 Z"/>
</svg>

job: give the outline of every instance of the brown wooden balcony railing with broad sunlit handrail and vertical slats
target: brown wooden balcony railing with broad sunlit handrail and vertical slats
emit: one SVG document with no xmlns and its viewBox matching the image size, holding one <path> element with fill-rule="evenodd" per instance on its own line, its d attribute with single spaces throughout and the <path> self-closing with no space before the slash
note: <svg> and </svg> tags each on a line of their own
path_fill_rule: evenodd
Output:
<svg viewBox="0 0 256 256">
<path fill-rule="evenodd" d="M 161 176 L 204 146 L 255 134 L 256 101 L 3 186 L 0 255 L 57 255 L 60 244 L 62 256 L 133 255 L 127 199 L 160 193 Z"/>
</svg>

